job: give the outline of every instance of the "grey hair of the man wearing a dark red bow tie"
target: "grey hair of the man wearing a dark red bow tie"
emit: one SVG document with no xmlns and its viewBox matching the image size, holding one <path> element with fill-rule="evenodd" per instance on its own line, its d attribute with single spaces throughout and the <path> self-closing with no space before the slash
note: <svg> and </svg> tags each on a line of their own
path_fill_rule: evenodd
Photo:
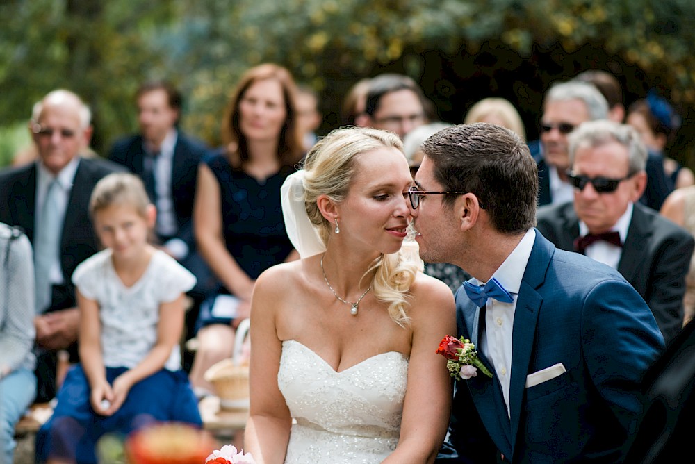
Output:
<svg viewBox="0 0 695 464">
<path fill-rule="evenodd" d="M 628 175 L 644 171 L 647 164 L 647 149 L 641 137 L 627 124 L 616 122 L 584 122 L 568 138 L 569 163 L 574 165 L 576 152 L 580 148 L 596 148 L 610 142 L 618 142 L 628 149 Z"/>
</svg>

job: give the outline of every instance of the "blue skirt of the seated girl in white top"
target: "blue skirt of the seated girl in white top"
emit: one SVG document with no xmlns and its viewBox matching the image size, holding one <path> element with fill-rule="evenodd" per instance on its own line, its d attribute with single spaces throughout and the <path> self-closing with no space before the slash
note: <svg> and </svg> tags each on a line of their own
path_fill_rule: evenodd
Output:
<svg viewBox="0 0 695 464">
<path fill-rule="evenodd" d="M 107 367 L 106 380 L 126 372 Z M 58 391 L 58 404 L 36 436 L 38 462 L 47 458 L 97 464 L 95 445 L 106 433 L 127 436 L 154 422 L 184 422 L 201 426 L 198 404 L 183 370 L 161 370 L 142 379 L 128 392 L 121 408 L 106 417 L 90 404 L 90 386 L 81 365 L 70 369 Z"/>
</svg>

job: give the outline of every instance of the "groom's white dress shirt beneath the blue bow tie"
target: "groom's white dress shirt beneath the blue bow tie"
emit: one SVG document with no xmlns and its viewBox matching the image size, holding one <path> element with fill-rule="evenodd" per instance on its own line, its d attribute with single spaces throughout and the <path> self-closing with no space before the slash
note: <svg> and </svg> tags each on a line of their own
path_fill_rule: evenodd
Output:
<svg viewBox="0 0 695 464">
<path fill-rule="evenodd" d="M 502 303 L 496 299 L 489 298 L 485 306 L 485 331 L 480 337 L 480 351 L 487 356 L 495 370 L 495 376 L 502 386 L 502 395 L 507 404 L 507 415 L 509 415 L 509 383 L 512 375 L 512 334 L 514 333 L 514 313 L 516 311 L 516 299 L 521 279 L 531 256 L 536 231 L 529 229 L 516 245 L 505 262 L 492 277 L 502 284 L 502 287 L 509 292 L 514 301 L 512 303 Z M 473 279 L 472 283 L 482 285 Z"/>
</svg>

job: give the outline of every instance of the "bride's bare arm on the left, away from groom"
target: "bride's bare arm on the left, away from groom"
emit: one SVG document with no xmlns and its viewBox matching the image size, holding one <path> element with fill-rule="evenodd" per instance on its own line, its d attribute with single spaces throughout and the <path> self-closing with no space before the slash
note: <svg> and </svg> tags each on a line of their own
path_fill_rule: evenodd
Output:
<svg viewBox="0 0 695 464">
<path fill-rule="evenodd" d="M 275 329 L 280 283 L 286 274 L 270 268 L 256 281 L 251 305 L 251 406 L 244 434 L 244 450 L 256 464 L 281 464 L 285 459 L 292 419 L 277 386 L 281 340 Z M 285 276 L 281 276 L 284 274 Z"/>
</svg>

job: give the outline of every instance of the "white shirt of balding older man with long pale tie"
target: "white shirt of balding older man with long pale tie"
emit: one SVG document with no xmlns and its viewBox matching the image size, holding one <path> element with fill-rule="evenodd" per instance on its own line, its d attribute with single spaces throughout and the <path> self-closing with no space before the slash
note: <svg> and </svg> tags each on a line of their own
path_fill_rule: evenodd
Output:
<svg viewBox="0 0 695 464">
<path fill-rule="evenodd" d="M 75 180 L 75 173 L 77 172 L 77 167 L 79 167 L 80 158 L 75 156 L 67 166 L 63 167 L 57 176 L 54 176 L 41 162 L 38 160 L 36 162 L 36 202 L 34 208 L 34 230 L 37 229 L 38 224 L 41 224 L 41 212 L 43 210 L 43 205 L 46 201 L 46 194 L 48 192 L 49 186 L 54 179 L 58 180 L 58 216 L 63 218 L 60 222 L 60 229 L 56 233 L 63 235 L 63 223 L 65 222 L 65 211 L 67 210 L 67 202 L 70 200 L 70 192 L 72 191 L 72 183 Z M 59 245 L 60 246 L 60 245 Z M 60 251 L 57 254 L 60 257 Z M 51 270 L 49 272 L 49 280 L 54 285 L 61 285 L 64 282 L 63 270 L 60 267 L 60 258 L 51 264 Z"/>
</svg>

